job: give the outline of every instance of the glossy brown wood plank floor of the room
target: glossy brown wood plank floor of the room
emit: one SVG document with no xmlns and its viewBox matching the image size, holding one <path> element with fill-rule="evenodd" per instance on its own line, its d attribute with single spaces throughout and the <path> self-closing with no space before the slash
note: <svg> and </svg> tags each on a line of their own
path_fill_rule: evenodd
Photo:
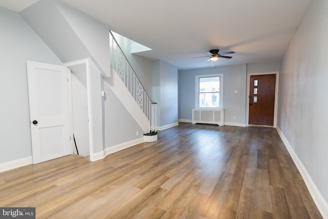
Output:
<svg viewBox="0 0 328 219">
<path fill-rule="evenodd" d="M 275 129 L 189 123 L 104 160 L 0 173 L 0 207 L 36 207 L 36 218 L 322 218 Z"/>
</svg>

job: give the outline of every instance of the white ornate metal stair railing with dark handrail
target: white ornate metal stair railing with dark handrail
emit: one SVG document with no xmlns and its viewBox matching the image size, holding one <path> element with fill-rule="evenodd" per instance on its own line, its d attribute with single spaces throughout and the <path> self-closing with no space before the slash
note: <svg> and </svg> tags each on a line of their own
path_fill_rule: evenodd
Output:
<svg viewBox="0 0 328 219">
<path fill-rule="evenodd" d="M 157 104 L 152 101 L 144 86 L 142 86 L 113 33 L 111 31 L 109 33 L 111 66 L 116 70 L 142 112 L 147 116 L 150 123 L 150 133 L 157 133 Z"/>
</svg>

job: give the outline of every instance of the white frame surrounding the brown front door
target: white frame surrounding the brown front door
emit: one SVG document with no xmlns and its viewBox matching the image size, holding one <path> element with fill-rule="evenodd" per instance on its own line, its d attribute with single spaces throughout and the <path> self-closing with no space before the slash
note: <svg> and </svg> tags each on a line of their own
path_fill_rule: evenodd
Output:
<svg viewBox="0 0 328 219">
<path fill-rule="evenodd" d="M 279 88 L 279 71 L 272 72 L 259 72 L 259 73 L 247 73 L 247 85 L 246 85 L 246 126 L 249 126 L 249 114 L 250 114 L 250 81 L 251 75 L 264 75 L 264 74 L 276 74 L 276 92 L 275 92 L 275 108 L 273 117 L 273 127 L 277 127 L 277 111 L 278 111 L 278 88 Z"/>
</svg>

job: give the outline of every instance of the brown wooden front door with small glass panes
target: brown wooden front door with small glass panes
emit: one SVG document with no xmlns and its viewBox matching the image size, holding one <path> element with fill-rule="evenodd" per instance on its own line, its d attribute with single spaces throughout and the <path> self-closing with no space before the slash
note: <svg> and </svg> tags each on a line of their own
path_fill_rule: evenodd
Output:
<svg viewBox="0 0 328 219">
<path fill-rule="evenodd" d="M 276 74 L 251 75 L 249 125 L 273 126 Z"/>
</svg>

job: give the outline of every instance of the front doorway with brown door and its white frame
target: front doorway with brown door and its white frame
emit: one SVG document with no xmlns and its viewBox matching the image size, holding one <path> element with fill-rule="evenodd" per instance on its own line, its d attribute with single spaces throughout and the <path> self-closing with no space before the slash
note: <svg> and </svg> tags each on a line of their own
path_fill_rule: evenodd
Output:
<svg viewBox="0 0 328 219">
<path fill-rule="evenodd" d="M 276 127 L 279 72 L 248 74 L 248 126 Z"/>
</svg>

